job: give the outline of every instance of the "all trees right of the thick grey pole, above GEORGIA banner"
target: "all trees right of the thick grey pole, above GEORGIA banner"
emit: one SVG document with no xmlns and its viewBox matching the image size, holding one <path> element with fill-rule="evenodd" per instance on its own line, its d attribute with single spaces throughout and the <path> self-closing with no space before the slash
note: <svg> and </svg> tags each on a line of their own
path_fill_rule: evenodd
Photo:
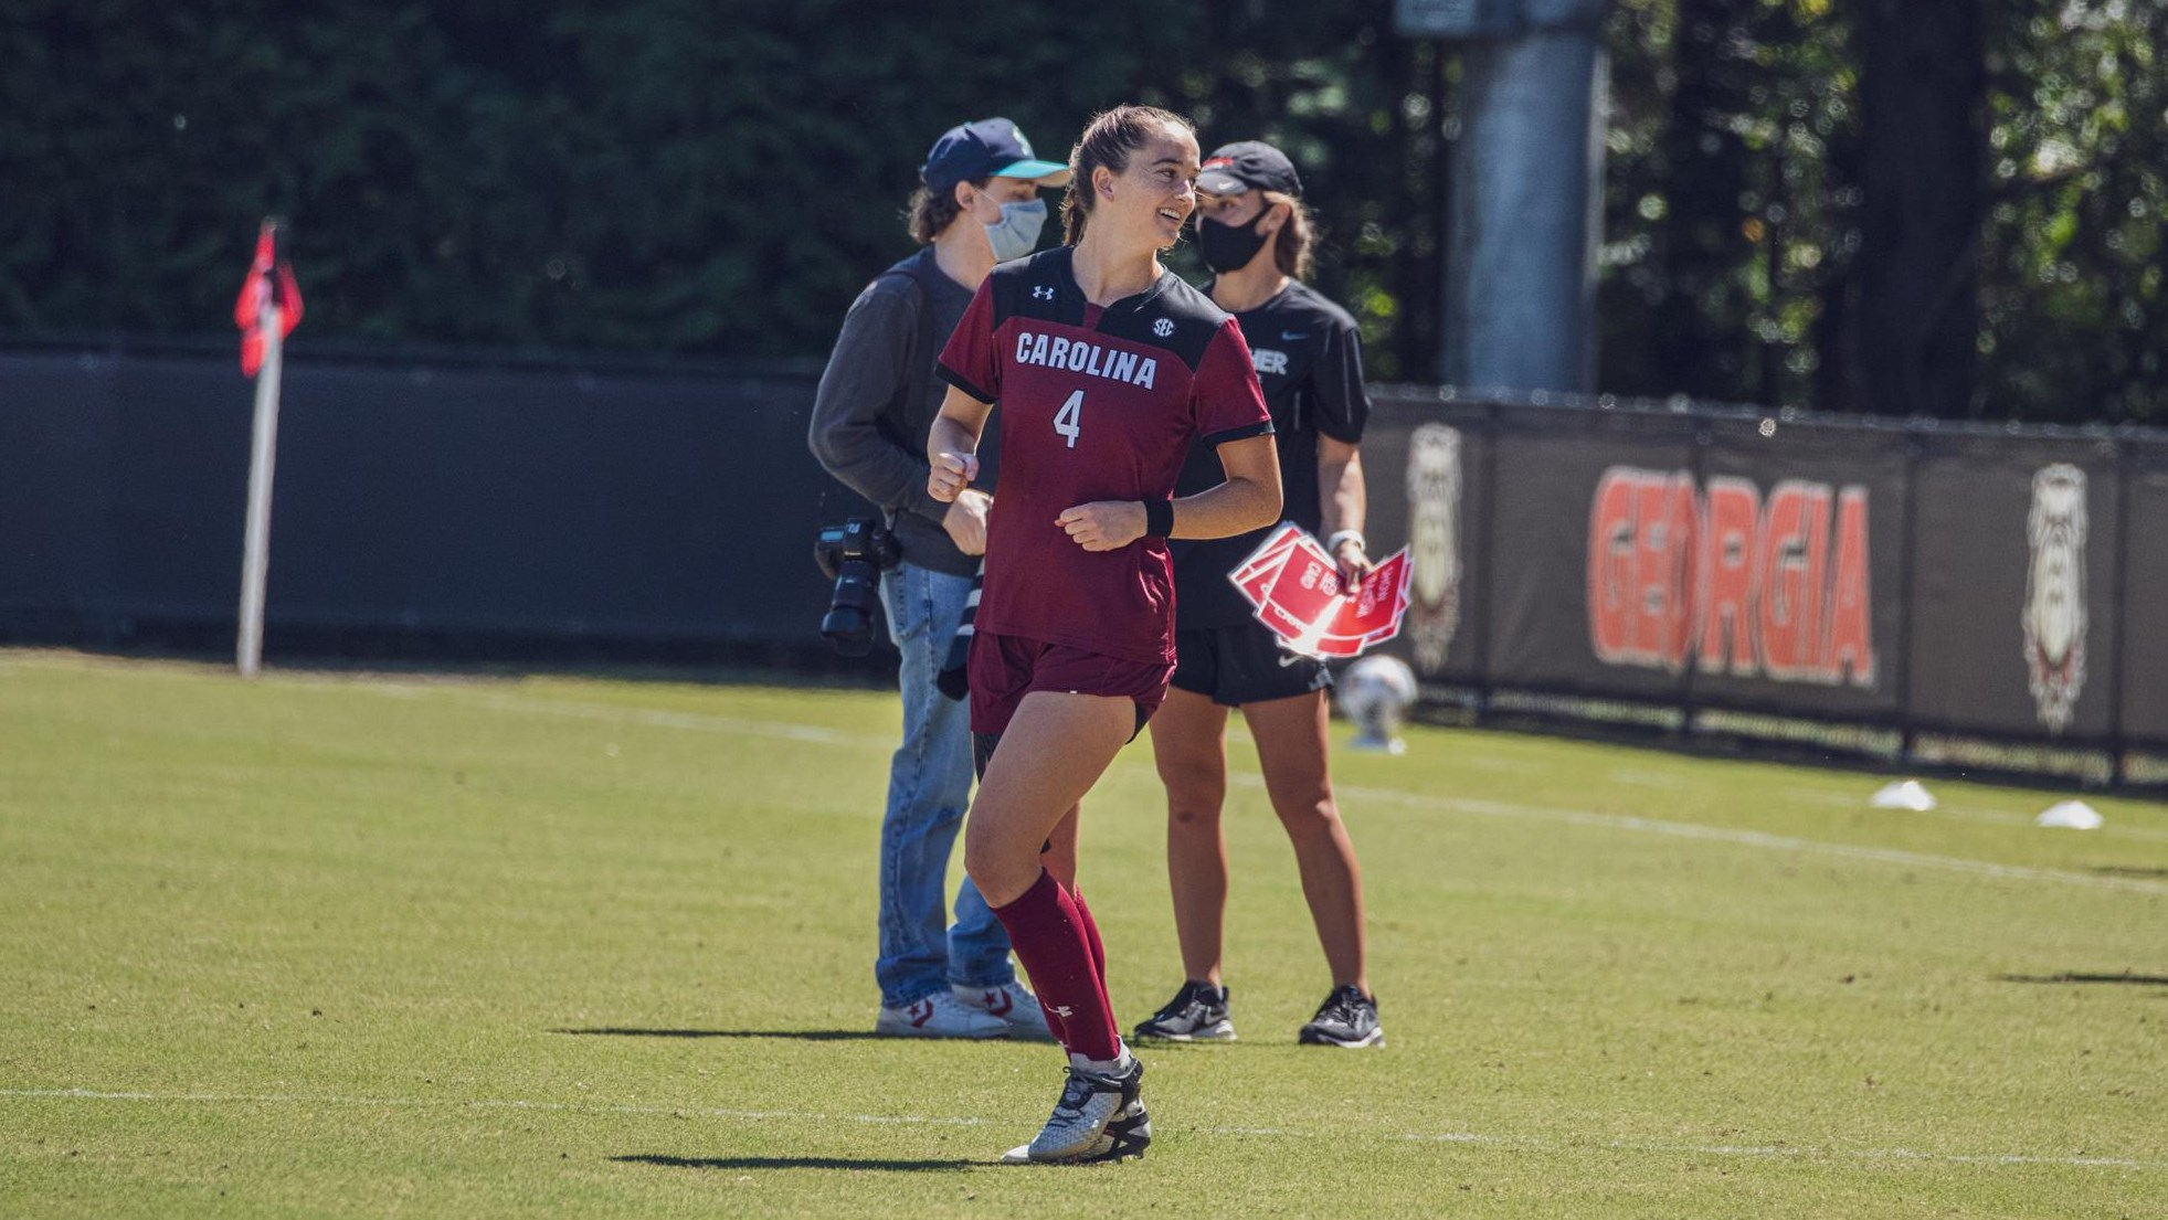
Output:
<svg viewBox="0 0 2168 1220">
<path fill-rule="evenodd" d="M 2168 420 L 2168 4 L 1617 0 L 1606 39 L 1606 390 Z"/>
</svg>

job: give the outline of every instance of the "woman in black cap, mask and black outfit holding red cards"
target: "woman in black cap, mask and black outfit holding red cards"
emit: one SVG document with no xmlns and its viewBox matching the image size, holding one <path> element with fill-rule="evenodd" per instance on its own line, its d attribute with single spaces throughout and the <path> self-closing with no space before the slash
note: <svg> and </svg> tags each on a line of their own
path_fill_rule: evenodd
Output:
<svg viewBox="0 0 2168 1220">
<path fill-rule="evenodd" d="M 1299 280 L 1309 273 L 1312 225 L 1303 182 L 1273 145 L 1216 150 L 1197 180 L 1203 219 L 1199 254 L 1216 275 L 1212 301 L 1234 312 L 1257 360 L 1288 520 L 1325 537 L 1353 587 L 1372 568 L 1364 555 L 1362 440 L 1370 399 L 1362 384 L 1355 319 Z M 1208 464 L 1190 462 L 1175 492 L 1210 485 Z M 1362 871 L 1325 765 L 1322 661 L 1294 657 L 1260 624 L 1227 572 L 1264 533 L 1184 542 L 1175 553 L 1175 678 L 1151 722 L 1151 750 L 1166 784 L 1166 875 L 1175 891 L 1175 938 L 1188 982 L 1140 1023 L 1138 1040 L 1234 1038 L 1221 982 L 1221 923 L 1227 908 L 1227 709 L 1257 741 L 1257 763 L 1279 823 L 1294 841 L 1303 897 L 1325 945 L 1333 990 L 1299 1040 L 1377 1047 L 1377 999 L 1364 966 Z"/>
</svg>

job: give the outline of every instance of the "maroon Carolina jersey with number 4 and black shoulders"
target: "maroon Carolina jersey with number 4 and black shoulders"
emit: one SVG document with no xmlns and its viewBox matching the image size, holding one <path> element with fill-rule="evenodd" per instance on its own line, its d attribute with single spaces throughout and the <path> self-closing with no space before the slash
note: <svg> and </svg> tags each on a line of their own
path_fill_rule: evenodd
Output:
<svg viewBox="0 0 2168 1220">
<path fill-rule="evenodd" d="M 1166 542 L 1084 550 L 1056 524 L 1093 501 L 1166 501 L 1190 444 L 1273 431 L 1236 321 L 1173 273 L 1108 308 L 1071 249 L 1004 262 L 978 286 L 941 375 L 1002 410 L 978 628 L 1173 663 Z"/>
</svg>

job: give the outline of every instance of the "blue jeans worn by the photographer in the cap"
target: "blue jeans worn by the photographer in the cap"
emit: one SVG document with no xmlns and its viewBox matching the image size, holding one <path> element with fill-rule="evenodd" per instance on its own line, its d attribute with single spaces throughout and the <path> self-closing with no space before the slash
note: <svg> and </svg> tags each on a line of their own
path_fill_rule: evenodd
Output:
<svg viewBox="0 0 2168 1220">
<path fill-rule="evenodd" d="M 947 661 L 969 576 L 915 563 L 880 574 L 889 639 L 902 650 L 904 743 L 889 763 L 889 808 L 880 817 L 880 1003 L 904 1008 L 950 984 L 991 988 L 1015 982 L 1008 932 L 971 878 L 956 891 L 956 925 L 943 912 L 950 849 L 971 800 L 971 715 L 934 687 Z"/>
</svg>

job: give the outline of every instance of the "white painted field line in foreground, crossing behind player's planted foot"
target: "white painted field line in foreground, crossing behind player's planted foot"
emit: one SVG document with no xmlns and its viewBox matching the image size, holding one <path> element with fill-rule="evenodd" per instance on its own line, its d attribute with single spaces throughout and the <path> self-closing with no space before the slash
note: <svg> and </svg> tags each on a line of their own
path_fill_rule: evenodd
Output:
<svg viewBox="0 0 2168 1220">
<path fill-rule="evenodd" d="M 950 1114 L 817 1114 L 806 1109 L 722 1109 L 709 1105 L 622 1105 L 622 1103 L 577 1103 L 577 1101 L 518 1101 L 518 1099 L 444 1099 L 444 1096 L 304 1096 L 282 1092 L 139 1092 L 139 1090 L 91 1090 L 91 1088 L 0 1088 L 0 1096 L 26 1101 L 141 1101 L 160 1105 L 299 1105 L 299 1107 L 362 1107 L 362 1109 L 531 1109 L 553 1114 L 627 1114 L 627 1116 L 670 1116 L 670 1118 L 718 1118 L 726 1122 L 861 1122 L 874 1127 L 1008 1127 L 1008 1120 L 950 1116 Z M 1283 1127 L 1186 1127 L 1190 1135 L 1253 1138 L 1253 1140 L 1305 1140 L 1316 1142 L 1320 1131 L 1296 1131 Z M 1932 1161 L 1960 1166 L 2070 1166 L 2070 1168 L 2118 1168 L 2118 1170 L 2168 1170 L 2168 1161 L 2138 1157 L 2055 1157 L 2040 1153 L 1932 1153 L 1921 1148 L 1812 1148 L 1812 1146 L 1743 1146 L 1743 1144 L 1682 1144 L 1667 1140 L 1544 1140 L 1533 1135 L 1481 1135 L 1474 1131 L 1398 1131 L 1357 1133 L 1338 1129 L 1335 1140 L 1377 1140 L 1388 1144 L 1474 1144 L 1489 1148 L 1520 1148 L 1537 1153 L 1570 1153 L 1574 1148 L 1611 1148 L 1648 1155 L 1689 1157 L 1758 1157 L 1795 1161 Z"/>
</svg>

